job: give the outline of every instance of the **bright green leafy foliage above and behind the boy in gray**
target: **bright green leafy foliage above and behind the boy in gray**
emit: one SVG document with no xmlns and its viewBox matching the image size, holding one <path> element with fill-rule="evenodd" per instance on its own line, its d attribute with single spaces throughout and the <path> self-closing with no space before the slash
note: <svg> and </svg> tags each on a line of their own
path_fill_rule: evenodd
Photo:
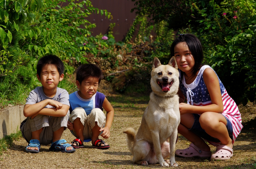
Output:
<svg viewBox="0 0 256 169">
<path fill-rule="evenodd" d="M 90 50 L 86 44 L 93 38 L 89 37 L 90 29 L 96 26 L 86 17 L 91 13 L 112 17 L 107 10 L 94 8 L 90 1 L 69 0 L 65 7 L 61 6 L 62 2 L 66 1 L 0 2 L 0 107 L 8 104 L 5 99 L 14 100 L 18 88 L 26 92 L 34 88 L 35 68 L 42 56 L 60 57 L 68 74 L 74 70 L 66 62 L 70 58 L 86 63 L 84 56 Z"/>
</svg>

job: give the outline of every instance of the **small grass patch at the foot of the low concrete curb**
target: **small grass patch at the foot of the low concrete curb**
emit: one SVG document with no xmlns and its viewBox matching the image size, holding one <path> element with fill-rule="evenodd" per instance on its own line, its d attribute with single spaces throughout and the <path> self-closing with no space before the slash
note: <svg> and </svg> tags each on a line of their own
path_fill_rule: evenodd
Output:
<svg viewBox="0 0 256 169">
<path fill-rule="evenodd" d="M 21 137 L 22 137 L 22 133 L 17 128 L 16 133 L 12 133 L 0 139 L 0 155 L 3 155 L 3 151 L 6 151 L 7 148 L 12 146 L 13 140 L 19 140 Z"/>
</svg>

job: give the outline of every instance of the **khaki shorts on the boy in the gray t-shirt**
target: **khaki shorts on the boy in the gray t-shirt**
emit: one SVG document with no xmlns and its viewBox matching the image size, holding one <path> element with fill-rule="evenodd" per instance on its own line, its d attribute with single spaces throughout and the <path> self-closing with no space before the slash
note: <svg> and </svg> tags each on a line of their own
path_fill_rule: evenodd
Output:
<svg viewBox="0 0 256 169">
<path fill-rule="evenodd" d="M 53 138 L 53 132 L 58 130 L 60 127 L 67 129 L 69 111 L 64 117 L 53 117 L 47 115 L 37 115 L 35 118 L 26 118 L 20 126 L 23 138 L 29 143 L 32 138 L 32 131 L 43 128 L 40 134 L 40 144 L 48 145 L 51 144 Z"/>
</svg>

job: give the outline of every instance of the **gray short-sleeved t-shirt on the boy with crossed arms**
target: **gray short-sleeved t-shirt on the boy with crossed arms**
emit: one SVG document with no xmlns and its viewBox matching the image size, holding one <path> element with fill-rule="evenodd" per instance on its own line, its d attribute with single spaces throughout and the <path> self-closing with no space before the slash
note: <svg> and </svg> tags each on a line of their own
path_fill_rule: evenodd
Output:
<svg viewBox="0 0 256 169">
<path fill-rule="evenodd" d="M 70 106 L 69 94 L 68 94 L 67 90 L 57 87 L 55 96 L 53 98 L 49 98 L 45 95 L 42 86 L 36 87 L 34 90 L 32 90 L 29 93 L 29 96 L 26 100 L 26 104 L 35 104 L 35 103 L 41 102 L 46 99 L 55 100 L 62 104 L 66 104 L 66 105 Z M 45 106 L 45 108 L 54 108 L 54 107 L 47 105 L 47 106 Z"/>
</svg>

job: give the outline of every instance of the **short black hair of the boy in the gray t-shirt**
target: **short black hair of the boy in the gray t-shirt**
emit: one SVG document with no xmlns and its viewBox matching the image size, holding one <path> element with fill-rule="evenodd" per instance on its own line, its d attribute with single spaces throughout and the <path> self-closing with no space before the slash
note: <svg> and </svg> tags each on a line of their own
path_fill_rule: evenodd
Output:
<svg viewBox="0 0 256 169">
<path fill-rule="evenodd" d="M 59 74 L 63 74 L 64 73 L 64 64 L 62 63 L 62 61 L 60 60 L 60 58 L 58 58 L 57 56 L 54 55 L 47 55 L 44 57 L 41 57 L 37 63 L 37 74 L 40 76 L 41 74 L 41 70 L 42 67 L 45 65 L 55 65 L 58 69 Z"/>
</svg>

